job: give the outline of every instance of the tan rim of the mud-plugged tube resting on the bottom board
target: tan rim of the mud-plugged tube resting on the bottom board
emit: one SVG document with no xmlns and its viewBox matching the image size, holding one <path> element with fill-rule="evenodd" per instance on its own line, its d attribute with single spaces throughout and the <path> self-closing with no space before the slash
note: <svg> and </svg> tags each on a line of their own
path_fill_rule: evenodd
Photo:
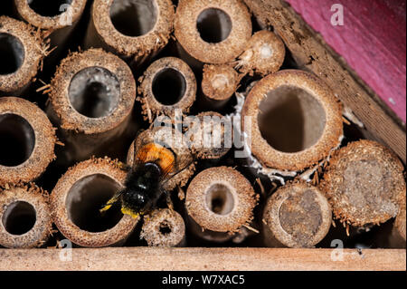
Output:
<svg viewBox="0 0 407 289">
<path fill-rule="evenodd" d="M 308 237 L 306 243 L 300 242 L 295 236 L 289 234 L 280 223 L 280 212 L 283 204 L 289 197 L 296 197 L 298 194 L 303 194 L 307 191 L 312 191 L 315 194 L 314 202 L 319 207 L 319 216 L 321 221 L 317 227 L 317 232 L 313 236 Z M 303 197 L 303 196 L 302 196 Z M 301 197 L 301 198 L 302 198 Z M 309 204 L 308 204 L 309 205 Z M 273 236 L 279 240 L 279 242 L 289 247 L 312 247 L 317 245 L 329 231 L 332 224 L 332 209 L 329 205 L 327 198 L 319 191 L 318 188 L 310 186 L 305 183 L 289 184 L 285 187 L 279 188 L 267 201 L 267 205 L 264 208 L 263 219 Z M 304 220 L 307 223 L 308 219 Z M 309 224 L 305 224 L 309 226 Z"/>
</svg>

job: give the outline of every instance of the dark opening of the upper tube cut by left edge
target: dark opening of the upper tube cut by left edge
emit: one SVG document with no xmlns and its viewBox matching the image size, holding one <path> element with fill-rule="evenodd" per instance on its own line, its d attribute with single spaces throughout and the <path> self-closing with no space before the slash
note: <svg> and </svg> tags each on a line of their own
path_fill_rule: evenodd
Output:
<svg viewBox="0 0 407 289">
<path fill-rule="evenodd" d="M 12 34 L 0 33 L 0 75 L 17 72 L 24 63 L 24 46 Z"/>
</svg>

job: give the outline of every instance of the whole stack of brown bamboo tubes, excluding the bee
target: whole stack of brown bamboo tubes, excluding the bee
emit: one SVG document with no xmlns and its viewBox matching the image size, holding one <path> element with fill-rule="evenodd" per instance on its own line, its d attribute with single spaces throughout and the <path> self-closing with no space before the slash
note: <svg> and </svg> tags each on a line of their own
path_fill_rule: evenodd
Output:
<svg viewBox="0 0 407 289">
<path fill-rule="evenodd" d="M 402 161 L 241 0 L 0 9 L 0 246 L 405 247 Z M 154 206 L 101 213 L 146 148 Z"/>
</svg>

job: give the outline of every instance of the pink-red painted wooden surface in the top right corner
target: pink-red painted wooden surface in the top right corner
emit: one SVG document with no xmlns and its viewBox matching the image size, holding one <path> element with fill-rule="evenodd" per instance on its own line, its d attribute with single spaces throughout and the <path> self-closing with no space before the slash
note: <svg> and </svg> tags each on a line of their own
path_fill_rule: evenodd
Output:
<svg viewBox="0 0 407 289">
<path fill-rule="evenodd" d="M 406 121 L 406 0 L 287 0 Z M 331 24 L 334 4 L 344 25 Z"/>
</svg>

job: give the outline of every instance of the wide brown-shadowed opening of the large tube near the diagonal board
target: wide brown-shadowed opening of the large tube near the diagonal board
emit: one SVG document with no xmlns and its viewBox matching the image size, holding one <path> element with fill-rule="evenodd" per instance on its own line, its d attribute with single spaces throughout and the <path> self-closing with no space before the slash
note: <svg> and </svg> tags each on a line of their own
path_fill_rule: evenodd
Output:
<svg viewBox="0 0 407 289">
<path fill-rule="evenodd" d="M 282 152 L 298 152 L 317 143 L 327 123 L 321 103 L 294 86 L 280 86 L 260 102 L 261 136 Z"/>
</svg>

